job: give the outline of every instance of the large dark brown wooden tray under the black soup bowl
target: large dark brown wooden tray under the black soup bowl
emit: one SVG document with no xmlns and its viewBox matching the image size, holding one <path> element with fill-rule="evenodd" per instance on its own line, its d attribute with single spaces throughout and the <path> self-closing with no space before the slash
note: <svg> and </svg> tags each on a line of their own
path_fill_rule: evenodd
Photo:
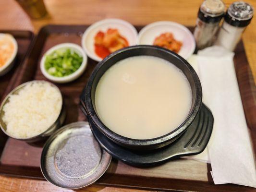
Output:
<svg viewBox="0 0 256 192">
<path fill-rule="evenodd" d="M 34 79 L 46 80 L 42 75 L 39 63 L 42 55 L 52 46 L 72 42 L 81 45 L 81 36 L 85 25 L 47 25 L 37 36 L 29 57 L 24 61 L 19 75 L 15 78 L 12 88 Z M 136 27 L 138 30 L 141 27 Z M 190 28 L 193 30 L 193 28 Z M 256 106 L 255 87 L 252 86 L 252 75 L 246 59 L 243 43 L 236 50 L 234 58 L 237 78 L 244 105 L 248 125 L 252 130 L 254 146 L 256 144 L 256 123 L 254 112 Z M 97 62 L 88 60 L 85 73 L 74 82 L 57 84 L 61 89 L 67 108 L 65 124 L 78 120 L 86 120 L 79 107 L 79 96 L 89 75 Z M 3 134 L 0 132 L 0 134 Z M 41 144 L 27 144 L 13 139 L 1 140 L 0 174 L 44 179 L 40 171 Z M 134 168 L 120 161 L 113 160 L 107 172 L 97 181 L 98 184 L 144 188 L 161 191 L 191 191 L 191 192 L 231 192 L 253 191 L 253 188 L 234 184 L 214 185 L 210 175 L 210 165 L 194 160 L 177 159 L 154 168 Z"/>
</svg>

